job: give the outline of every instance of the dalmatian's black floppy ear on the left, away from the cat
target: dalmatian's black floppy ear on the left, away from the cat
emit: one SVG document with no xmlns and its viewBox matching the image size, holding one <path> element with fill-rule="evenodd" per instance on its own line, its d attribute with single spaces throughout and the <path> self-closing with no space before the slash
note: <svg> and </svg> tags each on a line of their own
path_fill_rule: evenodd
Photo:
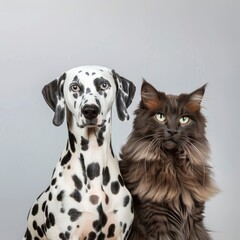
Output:
<svg viewBox="0 0 240 240">
<path fill-rule="evenodd" d="M 42 90 L 45 101 L 55 112 L 53 117 L 53 124 L 55 126 L 60 126 L 65 117 L 65 101 L 63 97 L 63 83 L 65 79 L 66 73 L 64 73 L 59 79 L 44 86 Z"/>
</svg>

